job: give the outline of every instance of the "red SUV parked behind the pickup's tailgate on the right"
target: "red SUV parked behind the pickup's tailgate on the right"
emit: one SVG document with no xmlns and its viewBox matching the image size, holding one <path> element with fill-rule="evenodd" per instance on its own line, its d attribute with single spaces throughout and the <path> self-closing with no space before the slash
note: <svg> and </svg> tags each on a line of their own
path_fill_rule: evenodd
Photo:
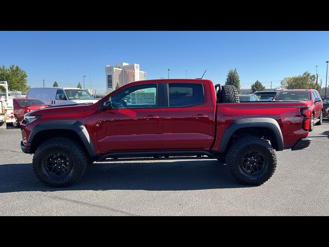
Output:
<svg viewBox="0 0 329 247">
<path fill-rule="evenodd" d="M 310 111 L 309 131 L 313 131 L 314 125 L 321 125 L 323 118 L 323 102 L 319 92 L 315 89 L 291 89 L 282 90 L 273 101 L 304 101 Z M 312 114 L 312 115 L 311 115 Z"/>
</svg>

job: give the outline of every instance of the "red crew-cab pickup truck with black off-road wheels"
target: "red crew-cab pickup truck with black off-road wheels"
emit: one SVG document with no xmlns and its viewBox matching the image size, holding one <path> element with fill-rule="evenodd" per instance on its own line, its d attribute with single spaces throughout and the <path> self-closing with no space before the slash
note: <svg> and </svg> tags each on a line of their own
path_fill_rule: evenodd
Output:
<svg viewBox="0 0 329 247">
<path fill-rule="evenodd" d="M 25 114 L 22 151 L 34 153 L 43 183 L 77 182 L 95 161 L 212 158 L 233 177 L 261 185 L 277 166 L 276 151 L 308 148 L 306 102 L 239 102 L 234 86 L 166 79 L 126 84 L 94 104 Z"/>
</svg>

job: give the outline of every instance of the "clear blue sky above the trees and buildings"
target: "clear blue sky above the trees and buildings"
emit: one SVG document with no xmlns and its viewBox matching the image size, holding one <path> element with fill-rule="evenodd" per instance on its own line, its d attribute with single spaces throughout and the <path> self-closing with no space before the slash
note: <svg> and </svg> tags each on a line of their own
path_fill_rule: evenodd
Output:
<svg viewBox="0 0 329 247">
<path fill-rule="evenodd" d="M 305 71 L 325 82 L 328 31 L 0 31 L 0 65 L 19 65 L 30 86 L 85 84 L 105 91 L 105 65 L 138 63 L 147 79 L 201 77 L 224 83 L 236 68 L 242 88 L 279 86 Z M 322 83 L 323 86 L 323 83 Z"/>
</svg>

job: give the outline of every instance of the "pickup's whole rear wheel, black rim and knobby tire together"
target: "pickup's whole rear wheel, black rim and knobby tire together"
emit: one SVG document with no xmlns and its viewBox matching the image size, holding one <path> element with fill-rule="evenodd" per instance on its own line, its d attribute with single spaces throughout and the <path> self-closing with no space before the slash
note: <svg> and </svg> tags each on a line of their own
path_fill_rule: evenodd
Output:
<svg viewBox="0 0 329 247">
<path fill-rule="evenodd" d="M 277 156 L 265 139 L 246 136 L 231 145 L 226 155 L 226 165 L 237 181 L 246 185 L 261 185 L 275 172 Z"/>
</svg>

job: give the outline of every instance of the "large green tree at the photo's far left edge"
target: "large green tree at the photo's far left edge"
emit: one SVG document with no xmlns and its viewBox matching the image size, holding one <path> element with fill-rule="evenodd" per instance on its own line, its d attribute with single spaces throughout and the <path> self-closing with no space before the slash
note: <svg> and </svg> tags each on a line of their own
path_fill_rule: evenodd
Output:
<svg viewBox="0 0 329 247">
<path fill-rule="evenodd" d="M 17 65 L 10 65 L 6 68 L 5 65 L 0 67 L 0 81 L 8 82 L 9 91 L 26 92 L 30 88 L 27 85 L 27 74 Z"/>
</svg>

